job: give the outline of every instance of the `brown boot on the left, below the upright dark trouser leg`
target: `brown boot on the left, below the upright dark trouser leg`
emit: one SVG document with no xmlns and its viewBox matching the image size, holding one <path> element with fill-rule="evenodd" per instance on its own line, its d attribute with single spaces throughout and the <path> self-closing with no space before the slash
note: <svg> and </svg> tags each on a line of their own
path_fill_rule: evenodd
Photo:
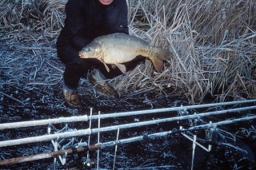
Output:
<svg viewBox="0 0 256 170">
<path fill-rule="evenodd" d="M 66 101 L 66 103 L 68 105 L 70 105 L 71 107 L 78 107 L 79 106 L 79 97 L 76 94 L 76 91 L 68 91 L 64 85 L 63 85 L 63 96 L 64 96 L 64 101 Z"/>
</svg>

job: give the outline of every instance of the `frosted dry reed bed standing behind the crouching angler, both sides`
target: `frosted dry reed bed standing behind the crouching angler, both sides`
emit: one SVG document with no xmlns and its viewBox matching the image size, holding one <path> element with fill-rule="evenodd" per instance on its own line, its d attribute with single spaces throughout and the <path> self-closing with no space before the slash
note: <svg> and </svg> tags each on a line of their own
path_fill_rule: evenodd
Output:
<svg viewBox="0 0 256 170">
<path fill-rule="evenodd" d="M 130 34 L 170 50 L 172 56 L 162 73 L 146 61 L 111 80 L 119 93 L 154 91 L 185 98 L 191 104 L 206 97 L 214 101 L 256 97 L 254 0 L 127 2 Z M 2 39 L 8 45 L 21 42 L 27 48 L 54 53 L 64 26 L 65 4 L 66 0 L 2 0 Z M 37 49 L 38 55 L 42 49 Z"/>
</svg>

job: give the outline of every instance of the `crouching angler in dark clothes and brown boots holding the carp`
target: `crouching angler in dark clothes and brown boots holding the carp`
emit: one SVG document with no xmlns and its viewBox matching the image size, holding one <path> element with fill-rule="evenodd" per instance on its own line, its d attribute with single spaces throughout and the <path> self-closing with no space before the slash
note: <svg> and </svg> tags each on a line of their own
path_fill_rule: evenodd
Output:
<svg viewBox="0 0 256 170">
<path fill-rule="evenodd" d="M 64 100 L 76 107 L 79 98 L 76 94 L 80 77 L 90 73 L 89 81 L 103 93 L 117 96 L 118 93 L 108 85 L 107 79 L 122 74 L 118 68 L 111 67 L 110 72 L 97 59 L 81 59 L 78 52 L 102 35 L 124 33 L 128 30 L 128 7 L 126 0 L 69 0 L 66 3 L 66 20 L 57 41 L 57 53 L 66 65 L 63 82 Z M 142 57 L 126 63 L 128 70 L 134 69 Z"/>
</svg>

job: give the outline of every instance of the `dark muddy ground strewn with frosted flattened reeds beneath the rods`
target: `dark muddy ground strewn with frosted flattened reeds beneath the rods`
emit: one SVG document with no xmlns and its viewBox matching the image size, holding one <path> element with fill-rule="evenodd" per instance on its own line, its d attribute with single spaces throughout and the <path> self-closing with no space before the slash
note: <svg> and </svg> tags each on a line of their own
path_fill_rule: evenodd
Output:
<svg viewBox="0 0 256 170">
<path fill-rule="evenodd" d="M 145 109 L 158 109 L 189 105 L 179 97 L 166 97 L 161 93 L 134 91 L 114 99 L 106 97 L 95 89 L 85 77 L 81 80 L 78 93 L 81 106 L 72 109 L 62 99 L 62 71 L 64 65 L 58 60 L 54 45 L 42 42 L 14 43 L 11 39 L 0 41 L 0 123 L 42 120 L 56 117 L 71 117 L 83 114 L 116 113 Z M 210 103 L 213 101 L 205 101 Z M 255 105 L 255 104 L 254 104 Z M 190 114 L 209 110 L 228 109 L 223 107 L 188 110 Z M 226 120 L 255 114 L 255 110 L 244 113 L 229 113 L 224 117 L 208 117 L 206 121 Z M 137 121 L 150 121 L 163 117 L 176 117 L 177 112 L 153 113 L 147 116 L 134 116 L 102 120 L 101 126 L 122 125 Z M 186 122 L 185 122 L 186 123 Z M 255 121 L 247 121 L 218 127 L 218 139 L 212 151 L 206 152 L 196 147 L 194 169 L 256 169 L 256 130 Z M 92 122 L 97 128 L 98 121 Z M 179 128 L 178 122 L 148 125 L 140 128 L 120 130 L 119 139 L 147 135 Z M 185 124 L 187 126 L 187 124 Z M 54 125 L 52 132 L 63 132 L 65 125 Z M 88 128 L 88 122 L 70 123 L 65 130 Z M 47 133 L 47 127 L 17 128 L 0 131 L 0 140 L 12 140 Z M 205 131 L 199 130 L 198 142 L 207 147 Z M 235 135 L 236 134 L 236 135 Z M 191 136 L 192 132 L 187 132 Z M 116 140 L 117 132 L 102 132 L 100 141 Z M 58 149 L 78 146 L 86 142 L 87 136 L 62 140 Z M 91 136 L 91 144 L 97 143 L 97 136 Z M 54 150 L 50 141 L 35 144 L 22 144 L 0 148 L 0 160 L 19 156 L 29 156 Z M 57 159 L 57 169 L 82 169 L 82 159 L 86 156 L 75 154 L 67 157 L 66 164 Z M 90 152 L 92 159 L 97 159 L 96 152 Z M 118 145 L 115 169 L 190 169 L 192 160 L 192 142 L 179 133 L 154 139 L 145 139 L 130 144 Z M 22 164 L 12 164 L 1 169 L 53 169 L 54 158 L 34 160 Z M 114 164 L 114 146 L 102 148 L 99 167 L 111 169 Z"/>
</svg>

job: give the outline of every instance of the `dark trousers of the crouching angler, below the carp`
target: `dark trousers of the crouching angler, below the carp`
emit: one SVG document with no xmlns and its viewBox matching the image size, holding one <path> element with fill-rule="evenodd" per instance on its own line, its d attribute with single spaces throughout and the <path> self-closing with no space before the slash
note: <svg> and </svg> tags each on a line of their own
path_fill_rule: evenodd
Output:
<svg viewBox="0 0 256 170">
<path fill-rule="evenodd" d="M 107 72 L 105 65 L 98 59 L 82 59 L 78 56 L 79 50 L 71 45 L 64 45 L 57 49 L 58 57 L 66 65 L 64 71 L 64 83 L 69 89 L 77 89 L 80 77 L 84 76 L 90 69 L 99 69 L 107 79 L 118 77 L 122 74 L 118 68 L 113 69 L 108 65 L 110 72 Z M 125 63 L 126 71 L 134 69 L 139 62 L 145 61 L 145 57 L 138 56 L 133 61 Z"/>
</svg>

